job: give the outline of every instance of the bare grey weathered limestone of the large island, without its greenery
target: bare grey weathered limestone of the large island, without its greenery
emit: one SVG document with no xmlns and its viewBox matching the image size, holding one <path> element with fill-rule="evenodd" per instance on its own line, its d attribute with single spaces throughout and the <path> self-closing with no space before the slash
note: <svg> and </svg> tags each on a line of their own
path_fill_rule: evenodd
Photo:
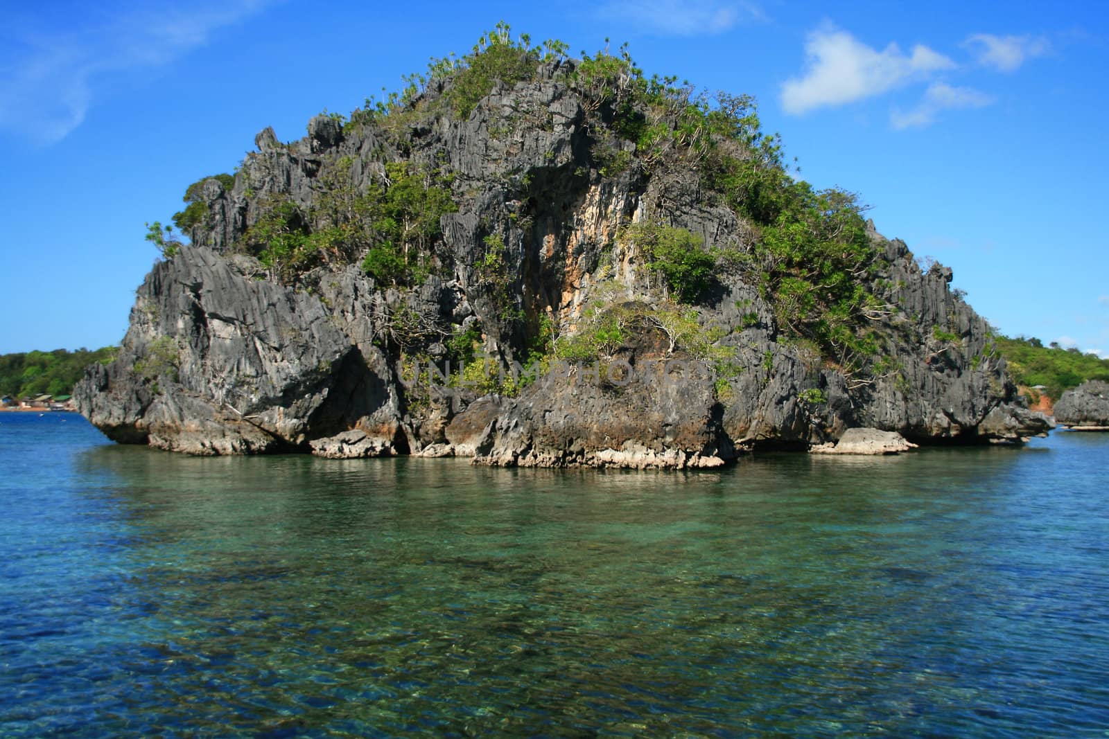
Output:
<svg viewBox="0 0 1109 739">
<path fill-rule="evenodd" d="M 263 131 L 230 191 L 204 184 L 193 245 L 147 276 L 119 358 L 75 389 L 80 410 L 116 441 L 195 454 L 418 453 L 499 465 L 704 468 L 856 427 L 918 443 L 1049 428 L 1019 404 L 986 322 L 948 289 L 950 270 L 922 271 L 904 243 L 873 228 L 882 367 L 847 372 L 787 338 L 742 270 L 722 271 L 696 311 L 726 373 L 671 340 L 651 319 L 658 284 L 618 228 L 650 214 L 710 245 L 742 249 L 754 236 L 688 172 L 635 157 L 607 168 L 597 113 L 564 71 L 546 65 L 532 81 L 495 86 L 465 120 L 436 115 L 399 133 L 325 116 L 288 145 Z M 428 95 L 442 93 L 436 84 Z M 604 142 L 617 147 L 609 160 L 635 150 Z M 378 285 L 357 259 L 326 253 L 289 284 L 241 253 L 274 198 L 312 213 L 335 182 L 366 193 L 398 161 L 452 176 L 457 209 L 441 217 L 434 268 L 417 285 Z M 505 246 L 497 280 L 491 236 Z M 427 381 L 429 365 L 457 359 L 448 345 L 464 329 L 479 327 L 480 349 L 503 369 L 531 353 L 545 322 L 571 336 L 591 306 L 620 301 L 639 306 L 639 322 L 596 369 L 548 357 L 530 384 Z M 416 369 L 414 382 L 406 372 Z"/>
</svg>

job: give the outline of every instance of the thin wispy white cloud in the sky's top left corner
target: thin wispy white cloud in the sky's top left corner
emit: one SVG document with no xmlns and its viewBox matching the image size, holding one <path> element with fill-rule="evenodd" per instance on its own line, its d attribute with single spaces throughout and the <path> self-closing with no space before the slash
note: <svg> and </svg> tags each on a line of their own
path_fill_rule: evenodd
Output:
<svg viewBox="0 0 1109 739">
<path fill-rule="evenodd" d="M 0 129 L 38 144 L 64 138 L 84 121 L 114 75 L 159 66 L 203 47 L 212 33 L 269 0 L 201 0 L 70 21 L 60 31 L 9 28 L 0 58 Z"/>
</svg>

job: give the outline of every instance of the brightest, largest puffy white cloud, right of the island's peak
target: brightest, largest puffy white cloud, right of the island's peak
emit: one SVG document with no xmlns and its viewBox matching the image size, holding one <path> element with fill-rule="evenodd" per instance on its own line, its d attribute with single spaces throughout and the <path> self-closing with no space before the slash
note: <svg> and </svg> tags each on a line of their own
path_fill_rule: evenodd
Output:
<svg viewBox="0 0 1109 739">
<path fill-rule="evenodd" d="M 955 68 L 947 57 L 917 44 L 904 53 L 896 43 L 877 51 L 846 31 L 827 27 L 808 34 L 807 69 L 782 85 L 786 113 L 806 113 L 873 97 L 914 80 Z"/>
</svg>

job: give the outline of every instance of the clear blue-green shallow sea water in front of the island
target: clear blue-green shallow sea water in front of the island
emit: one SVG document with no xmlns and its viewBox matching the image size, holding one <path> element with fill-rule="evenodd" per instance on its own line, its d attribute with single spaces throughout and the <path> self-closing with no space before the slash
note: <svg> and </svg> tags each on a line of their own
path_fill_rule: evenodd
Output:
<svg viewBox="0 0 1109 739">
<path fill-rule="evenodd" d="M 719 473 L 0 415 L 0 736 L 1109 736 L 1109 434 Z"/>
</svg>

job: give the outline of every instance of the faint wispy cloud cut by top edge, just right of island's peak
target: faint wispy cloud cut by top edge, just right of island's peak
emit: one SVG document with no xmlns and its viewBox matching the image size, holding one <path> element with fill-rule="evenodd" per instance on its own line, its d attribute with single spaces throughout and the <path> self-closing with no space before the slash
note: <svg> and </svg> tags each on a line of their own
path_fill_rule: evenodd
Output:
<svg viewBox="0 0 1109 739">
<path fill-rule="evenodd" d="M 736 23 L 765 19 L 757 4 L 745 0 L 609 0 L 598 12 L 659 35 L 723 33 Z"/>
</svg>

